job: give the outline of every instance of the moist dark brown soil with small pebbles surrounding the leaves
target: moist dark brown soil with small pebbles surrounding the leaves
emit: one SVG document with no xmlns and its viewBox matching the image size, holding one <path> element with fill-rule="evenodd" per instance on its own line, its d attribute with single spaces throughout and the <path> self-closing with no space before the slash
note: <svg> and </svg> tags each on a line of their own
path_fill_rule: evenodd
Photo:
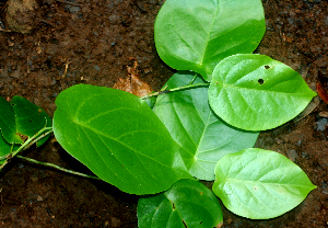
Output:
<svg viewBox="0 0 328 228">
<path fill-rule="evenodd" d="M 327 76 L 328 2 L 263 0 L 267 32 L 256 53 L 298 71 L 315 90 Z M 50 116 L 56 96 L 87 83 L 113 87 L 131 58 L 140 77 L 159 90 L 173 75 L 159 58 L 153 25 L 164 0 L 43 0 L 30 34 L 9 32 L 0 2 L 0 95 L 21 95 Z M 20 16 L 22 16 L 20 14 Z M 21 20 L 24 21 L 24 20 Z M 33 22 L 33 23 L 32 23 Z M 4 32 L 5 31 L 5 32 Z M 328 227 L 328 106 L 323 101 L 298 122 L 261 133 L 256 147 L 298 164 L 317 185 L 296 208 L 274 219 L 250 220 L 223 207 L 223 227 Z M 90 173 L 51 137 L 25 156 Z M 138 227 L 138 197 L 101 181 L 13 159 L 0 173 L 0 227 Z"/>
</svg>

